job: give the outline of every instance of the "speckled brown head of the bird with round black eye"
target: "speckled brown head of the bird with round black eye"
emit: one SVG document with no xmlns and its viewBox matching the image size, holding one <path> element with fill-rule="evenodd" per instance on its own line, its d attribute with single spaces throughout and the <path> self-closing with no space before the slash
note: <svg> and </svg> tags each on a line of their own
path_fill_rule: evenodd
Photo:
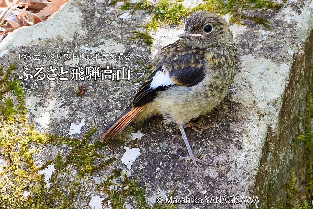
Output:
<svg viewBox="0 0 313 209">
<path fill-rule="evenodd" d="M 186 22 L 185 32 L 178 37 L 186 38 L 192 48 L 209 48 L 233 40 L 226 21 L 204 11 L 193 13 Z"/>
</svg>

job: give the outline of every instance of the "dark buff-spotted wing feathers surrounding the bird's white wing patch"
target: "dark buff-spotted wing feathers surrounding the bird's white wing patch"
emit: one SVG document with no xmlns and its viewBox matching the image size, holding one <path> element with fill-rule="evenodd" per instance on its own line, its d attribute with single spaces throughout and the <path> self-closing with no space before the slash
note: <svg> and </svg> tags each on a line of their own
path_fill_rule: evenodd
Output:
<svg viewBox="0 0 313 209">
<path fill-rule="evenodd" d="M 204 51 L 200 49 L 191 49 L 185 39 L 180 39 L 173 44 L 162 48 L 155 57 L 154 65 L 157 67 L 149 78 L 142 84 L 138 90 L 132 106 L 139 107 L 150 103 L 156 98 L 156 95 L 169 88 L 170 86 L 191 87 L 200 83 L 204 78 Z M 151 88 L 153 77 L 158 71 L 167 73 L 174 85 L 158 86 Z"/>
</svg>

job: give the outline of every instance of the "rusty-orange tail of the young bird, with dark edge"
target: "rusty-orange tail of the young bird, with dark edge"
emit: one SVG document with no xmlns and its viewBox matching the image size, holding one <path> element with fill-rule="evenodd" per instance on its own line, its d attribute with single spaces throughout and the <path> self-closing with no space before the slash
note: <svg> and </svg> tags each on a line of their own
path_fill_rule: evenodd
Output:
<svg viewBox="0 0 313 209">
<path fill-rule="evenodd" d="M 131 107 L 127 108 L 125 112 L 123 112 L 118 118 L 116 118 L 113 123 L 111 123 L 104 133 L 101 135 L 100 141 L 105 142 L 109 140 L 110 138 L 114 138 L 118 133 L 123 130 L 128 123 L 132 121 L 138 115 L 142 110 L 146 108 L 146 105 L 141 105 L 139 107 Z"/>
</svg>

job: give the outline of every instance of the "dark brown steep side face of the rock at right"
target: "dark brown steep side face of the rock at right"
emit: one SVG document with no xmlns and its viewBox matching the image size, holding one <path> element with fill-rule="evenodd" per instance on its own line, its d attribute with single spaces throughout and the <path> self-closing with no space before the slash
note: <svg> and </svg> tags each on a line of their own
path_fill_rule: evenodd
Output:
<svg viewBox="0 0 313 209">
<path fill-rule="evenodd" d="M 294 55 L 293 58 L 289 83 L 285 88 L 283 105 L 278 118 L 278 131 L 274 132 L 270 126 L 267 129 L 267 138 L 254 185 L 254 194 L 266 200 L 269 184 L 272 181 L 272 199 L 267 200 L 267 205 L 276 207 L 280 204 L 280 197 L 283 201 L 287 197 L 282 185 L 289 179 L 291 167 L 298 177 L 296 186 L 305 181 L 307 155 L 303 144 L 293 143 L 292 140 L 304 132 L 306 97 L 312 92 L 313 34 L 303 44 L 301 53 Z M 290 147 L 291 143 L 296 144 L 294 150 Z"/>
</svg>

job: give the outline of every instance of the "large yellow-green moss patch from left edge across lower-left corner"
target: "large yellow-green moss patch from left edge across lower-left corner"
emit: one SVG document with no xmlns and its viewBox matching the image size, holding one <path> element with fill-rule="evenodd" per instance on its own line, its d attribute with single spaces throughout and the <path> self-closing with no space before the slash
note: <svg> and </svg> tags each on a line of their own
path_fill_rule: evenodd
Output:
<svg viewBox="0 0 313 209">
<path fill-rule="evenodd" d="M 23 87 L 11 75 L 13 70 L 14 64 L 6 71 L 0 65 L 0 147 L 1 158 L 7 162 L 1 165 L 0 208 L 73 208 L 78 198 L 86 199 L 81 187 L 86 174 L 103 169 L 115 158 L 97 153 L 106 144 L 89 143 L 96 131 L 95 125 L 80 139 L 34 130 L 34 124 L 27 123 Z M 70 151 L 64 157 L 62 153 L 57 154 L 43 166 L 35 165 L 33 155 L 38 153 L 41 144 L 47 143 L 66 144 Z M 49 180 L 48 190 L 43 175 L 38 172 L 52 163 L 56 171 Z M 72 168 L 77 171 L 76 178 L 64 178 L 71 174 Z M 31 195 L 26 198 L 24 192 Z"/>
</svg>

